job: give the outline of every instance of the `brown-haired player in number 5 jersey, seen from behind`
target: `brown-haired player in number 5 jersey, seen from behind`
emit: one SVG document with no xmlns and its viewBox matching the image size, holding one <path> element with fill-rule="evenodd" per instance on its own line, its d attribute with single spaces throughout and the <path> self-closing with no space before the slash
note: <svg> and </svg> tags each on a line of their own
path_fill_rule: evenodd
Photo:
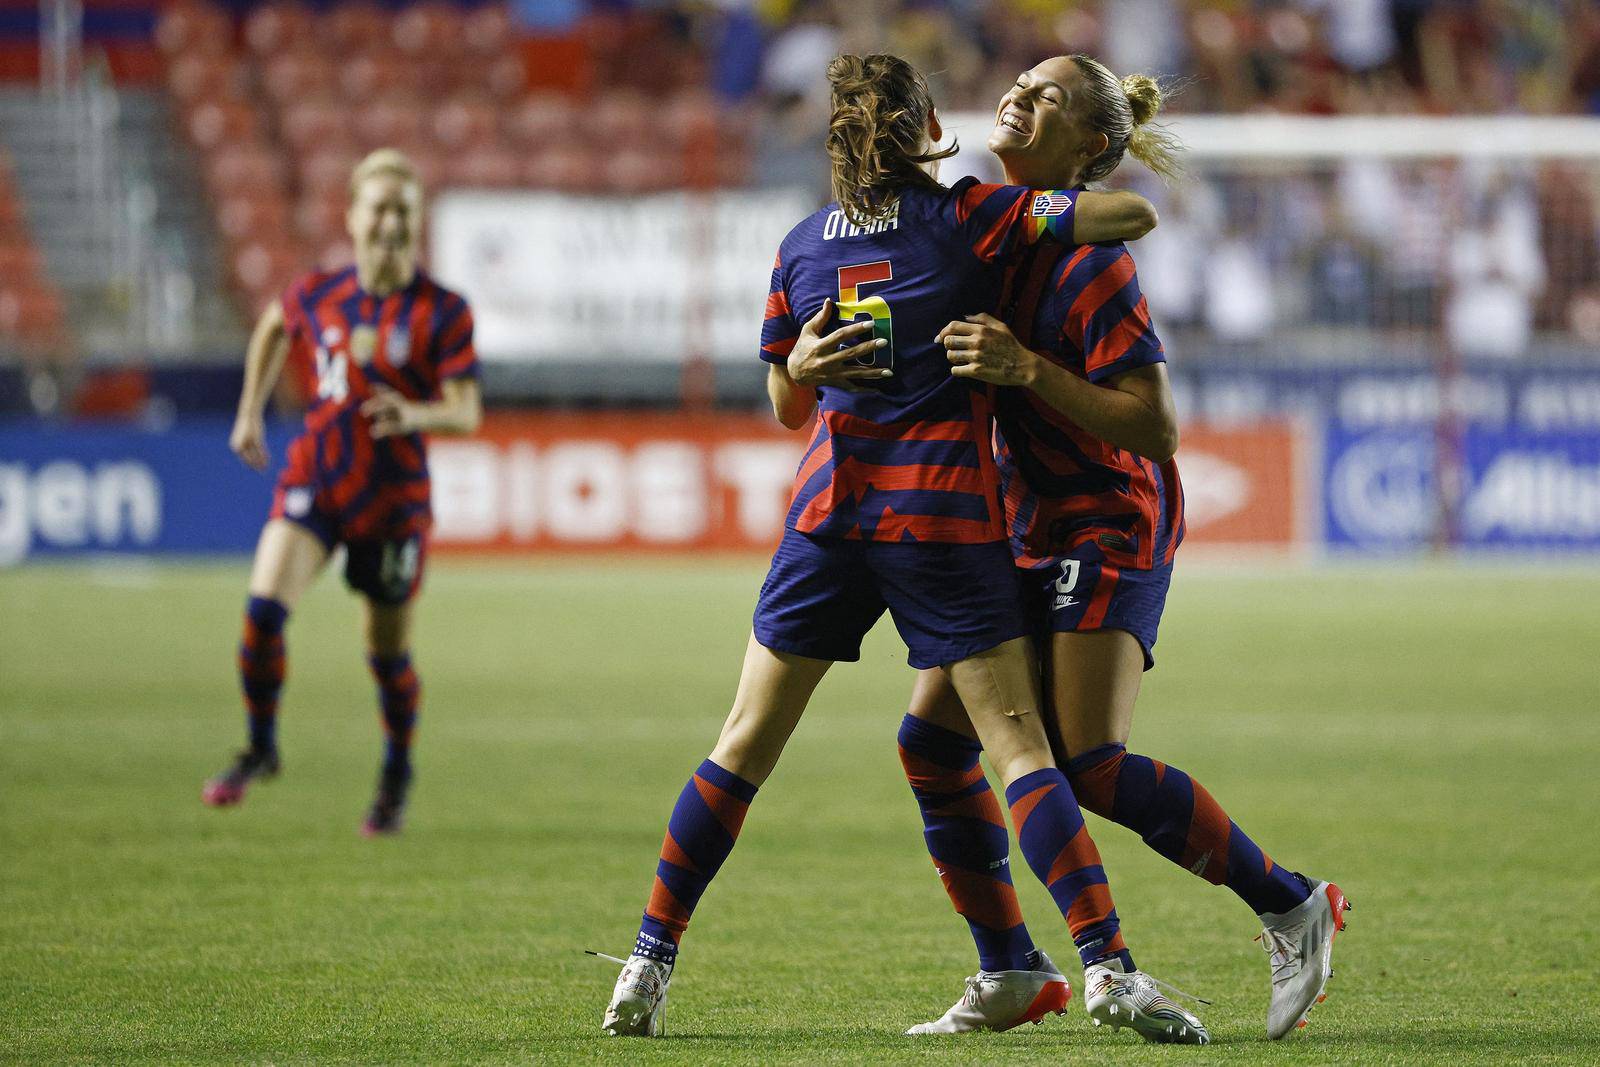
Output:
<svg viewBox="0 0 1600 1067">
<path fill-rule="evenodd" d="M 678 941 L 757 789 L 818 681 L 835 661 L 859 657 L 885 611 L 910 662 L 944 667 L 962 693 L 1029 864 L 1062 913 L 1085 920 L 1074 929 L 1085 961 L 1126 957 L 1099 856 L 1038 713 L 989 390 L 952 378 L 934 338 L 952 315 L 995 306 L 1018 250 L 1138 235 L 1149 205 L 971 181 L 946 189 L 923 170 L 949 152 L 933 149 L 941 131 L 922 75 L 893 56 L 840 56 L 829 80 L 837 203 L 782 242 L 760 350 L 779 421 L 798 429 L 814 408 L 816 430 L 757 600 L 733 712 L 667 822 L 634 953 L 605 1014 L 616 1035 L 659 1033 Z M 970 803 L 997 809 L 987 789 Z M 1019 1021 L 1061 1011 L 1069 995 L 1048 958 L 1030 965 L 1045 977 L 1018 1006 Z"/>
</svg>

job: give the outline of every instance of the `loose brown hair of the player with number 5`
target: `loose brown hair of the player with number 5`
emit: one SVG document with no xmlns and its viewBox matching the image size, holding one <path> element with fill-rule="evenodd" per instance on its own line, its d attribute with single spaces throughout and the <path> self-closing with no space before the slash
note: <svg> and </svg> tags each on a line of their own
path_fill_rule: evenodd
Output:
<svg viewBox="0 0 1600 1067">
<path fill-rule="evenodd" d="M 899 56 L 845 54 L 827 64 L 827 82 L 834 200 L 851 222 L 866 226 L 891 214 L 906 186 L 938 186 L 923 165 L 957 149 L 931 150 L 933 96 L 915 67 Z"/>
</svg>

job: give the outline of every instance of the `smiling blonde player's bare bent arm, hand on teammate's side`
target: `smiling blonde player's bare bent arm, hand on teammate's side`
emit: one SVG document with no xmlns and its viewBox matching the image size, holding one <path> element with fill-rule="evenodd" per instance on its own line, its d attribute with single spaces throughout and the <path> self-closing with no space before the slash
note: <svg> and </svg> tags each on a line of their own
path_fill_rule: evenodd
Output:
<svg viewBox="0 0 1600 1067">
<path fill-rule="evenodd" d="M 1029 350 L 994 315 L 952 322 L 938 339 L 957 378 L 1032 389 L 1094 437 L 1146 459 L 1166 462 L 1178 451 L 1178 408 L 1165 363 L 1139 366 L 1096 386 Z"/>
</svg>

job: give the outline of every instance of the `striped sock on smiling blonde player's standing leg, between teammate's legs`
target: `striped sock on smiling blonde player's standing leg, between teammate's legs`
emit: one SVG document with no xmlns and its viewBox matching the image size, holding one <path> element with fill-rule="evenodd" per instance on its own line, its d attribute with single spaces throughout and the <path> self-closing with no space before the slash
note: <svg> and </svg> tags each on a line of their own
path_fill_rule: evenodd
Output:
<svg viewBox="0 0 1600 1067">
<path fill-rule="evenodd" d="M 978 765 L 982 745 L 907 715 L 901 720 L 899 752 L 922 809 L 933 865 L 978 944 L 978 966 L 1032 969 L 1034 939 L 1011 885 L 1005 816 Z"/>
</svg>

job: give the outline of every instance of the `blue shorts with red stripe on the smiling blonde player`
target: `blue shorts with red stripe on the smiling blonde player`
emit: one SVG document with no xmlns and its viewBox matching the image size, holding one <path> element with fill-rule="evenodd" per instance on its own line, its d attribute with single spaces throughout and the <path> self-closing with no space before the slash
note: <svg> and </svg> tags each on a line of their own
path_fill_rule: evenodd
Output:
<svg viewBox="0 0 1600 1067">
<path fill-rule="evenodd" d="M 1166 608 L 1173 565 L 1120 568 L 1094 544 L 1018 569 L 1027 617 L 1038 637 L 1126 630 L 1144 651 L 1144 669 L 1155 665 L 1155 630 Z"/>
</svg>

